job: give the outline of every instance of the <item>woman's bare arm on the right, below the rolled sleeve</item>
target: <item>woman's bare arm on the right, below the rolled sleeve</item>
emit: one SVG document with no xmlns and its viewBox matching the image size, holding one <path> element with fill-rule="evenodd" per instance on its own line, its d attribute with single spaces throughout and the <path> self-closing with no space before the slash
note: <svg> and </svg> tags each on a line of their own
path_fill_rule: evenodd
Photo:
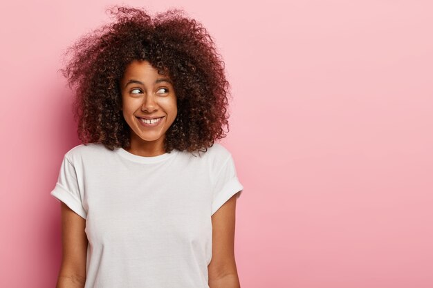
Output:
<svg viewBox="0 0 433 288">
<path fill-rule="evenodd" d="M 234 194 L 212 215 L 212 260 L 208 266 L 210 288 L 240 288 L 234 260 L 236 215 Z"/>
</svg>

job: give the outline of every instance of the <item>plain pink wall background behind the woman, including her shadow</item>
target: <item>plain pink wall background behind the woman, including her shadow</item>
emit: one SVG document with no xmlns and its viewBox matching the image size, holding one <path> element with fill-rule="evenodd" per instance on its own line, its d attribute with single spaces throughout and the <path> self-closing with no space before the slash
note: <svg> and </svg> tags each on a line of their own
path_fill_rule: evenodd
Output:
<svg viewBox="0 0 433 288">
<path fill-rule="evenodd" d="M 57 69 L 113 3 L 2 3 L 0 287 L 55 286 L 80 144 Z M 225 59 L 242 287 L 433 287 L 431 1 L 127 3 L 185 8 Z"/>
</svg>

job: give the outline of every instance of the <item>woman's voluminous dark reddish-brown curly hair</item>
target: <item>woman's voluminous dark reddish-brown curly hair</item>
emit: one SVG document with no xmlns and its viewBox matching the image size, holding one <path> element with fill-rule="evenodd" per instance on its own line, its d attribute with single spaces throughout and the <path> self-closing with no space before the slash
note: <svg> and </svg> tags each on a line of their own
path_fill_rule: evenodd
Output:
<svg viewBox="0 0 433 288">
<path fill-rule="evenodd" d="M 73 114 L 83 144 L 101 143 L 110 150 L 130 145 L 120 79 L 136 59 L 149 61 L 174 82 L 178 115 L 165 134 L 167 153 L 205 152 L 225 137 L 230 84 L 221 55 L 202 24 L 178 8 L 154 19 L 142 8 L 111 6 L 107 12 L 117 21 L 70 46 L 64 56 L 72 56 L 60 69 L 75 90 Z"/>
</svg>

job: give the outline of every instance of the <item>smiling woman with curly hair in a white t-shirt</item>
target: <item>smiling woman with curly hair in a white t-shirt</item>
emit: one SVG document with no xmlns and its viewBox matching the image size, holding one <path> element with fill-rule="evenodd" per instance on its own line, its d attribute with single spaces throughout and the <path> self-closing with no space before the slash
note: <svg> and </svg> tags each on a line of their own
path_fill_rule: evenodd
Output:
<svg viewBox="0 0 433 288">
<path fill-rule="evenodd" d="M 228 81 L 208 32 L 181 10 L 117 21 L 68 50 L 83 144 L 51 191 L 62 206 L 57 287 L 240 287 L 239 182 Z"/>
</svg>

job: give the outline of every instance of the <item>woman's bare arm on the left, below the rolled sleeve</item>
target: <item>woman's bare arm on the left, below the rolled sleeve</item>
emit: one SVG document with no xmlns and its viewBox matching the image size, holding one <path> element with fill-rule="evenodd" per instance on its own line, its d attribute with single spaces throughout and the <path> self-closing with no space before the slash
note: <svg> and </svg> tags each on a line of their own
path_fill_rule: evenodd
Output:
<svg viewBox="0 0 433 288">
<path fill-rule="evenodd" d="M 86 282 L 86 220 L 62 202 L 62 265 L 56 288 L 83 288 Z"/>
</svg>

